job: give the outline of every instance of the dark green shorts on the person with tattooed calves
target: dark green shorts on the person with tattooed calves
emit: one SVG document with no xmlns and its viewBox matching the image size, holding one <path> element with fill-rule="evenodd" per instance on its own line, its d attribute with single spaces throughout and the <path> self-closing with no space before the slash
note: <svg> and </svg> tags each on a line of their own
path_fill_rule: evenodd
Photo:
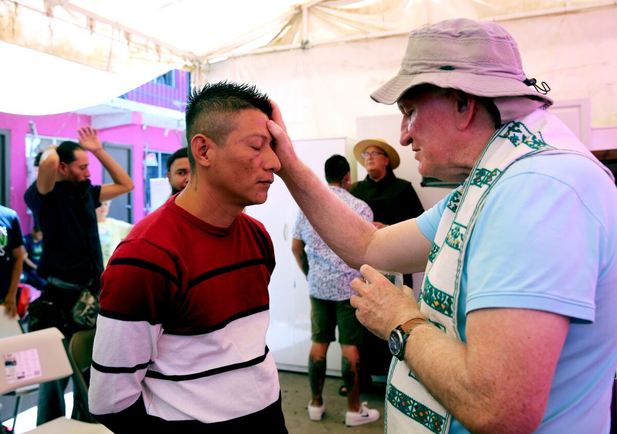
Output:
<svg viewBox="0 0 617 434">
<path fill-rule="evenodd" d="M 334 328 L 339 326 L 339 343 L 362 344 L 363 327 L 355 317 L 355 307 L 349 300 L 321 300 L 310 296 L 311 340 L 317 343 L 334 341 Z"/>
</svg>

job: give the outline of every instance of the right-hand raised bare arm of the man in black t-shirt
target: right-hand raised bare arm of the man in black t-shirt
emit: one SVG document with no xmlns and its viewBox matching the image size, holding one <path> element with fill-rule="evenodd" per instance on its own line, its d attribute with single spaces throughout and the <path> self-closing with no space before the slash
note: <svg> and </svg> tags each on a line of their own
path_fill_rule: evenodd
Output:
<svg viewBox="0 0 617 434">
<path fill-rule="evenodd" d="M 120 194 L 128 193 L 133 190 L 133 180 L 128 173 L 103 149 L 96 129 L 91 127 L 81 127 L 78 131 L 79 143 L 84 149 L 94 154 L 103 167 L 107 169 L 109 175 L 114 180 L 113 184 L 101 186 L 100 201 L 109 201 Z"/>
</svg>

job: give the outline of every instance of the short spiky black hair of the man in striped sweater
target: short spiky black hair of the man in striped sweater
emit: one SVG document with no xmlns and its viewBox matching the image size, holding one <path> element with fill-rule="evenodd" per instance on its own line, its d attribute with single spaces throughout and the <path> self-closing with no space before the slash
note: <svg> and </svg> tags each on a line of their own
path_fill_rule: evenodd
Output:
<svg viewBox="0 0 617 434">
<path fill-rule="evenodd" d="M 254 85 L 220 81 L 196 87 L 189 93 L 184 116 L 191 172 L 195 169 L 195 159 L 191 152 L 193 137 L 201 133 L 222 146 L 236 127 L 231 118 L 242 109 L 258 109 L 268 119 L 272 117 L 270 99 Z"/>
</svg>

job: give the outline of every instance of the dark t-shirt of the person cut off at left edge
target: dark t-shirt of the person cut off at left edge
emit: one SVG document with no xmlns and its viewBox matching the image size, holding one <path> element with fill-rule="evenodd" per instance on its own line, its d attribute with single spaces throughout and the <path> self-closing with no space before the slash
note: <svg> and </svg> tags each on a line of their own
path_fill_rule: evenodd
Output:
<svg viewBox="0 0 617 434">
<path fill-rule="evenodd" d="M 17 212 L 0 205 L 0 300 L 9 290 L 13 267 L 13 249 L 23 244 Z"/>
</svg>

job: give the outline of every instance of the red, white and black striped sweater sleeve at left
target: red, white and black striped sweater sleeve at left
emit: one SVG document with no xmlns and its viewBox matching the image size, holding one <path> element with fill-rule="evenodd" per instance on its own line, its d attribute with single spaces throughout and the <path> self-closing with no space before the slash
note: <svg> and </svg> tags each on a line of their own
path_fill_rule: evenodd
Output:
<svg viewBox="0 0 617 434">
<path fill-rule="evenodd" d="M 115 431 L 146 419 L 142 382 L 157 357 L 178 276 L 167 252 L 131 240 L 118 246 L 101 283 L 89 405 Z"/>
</svg>

